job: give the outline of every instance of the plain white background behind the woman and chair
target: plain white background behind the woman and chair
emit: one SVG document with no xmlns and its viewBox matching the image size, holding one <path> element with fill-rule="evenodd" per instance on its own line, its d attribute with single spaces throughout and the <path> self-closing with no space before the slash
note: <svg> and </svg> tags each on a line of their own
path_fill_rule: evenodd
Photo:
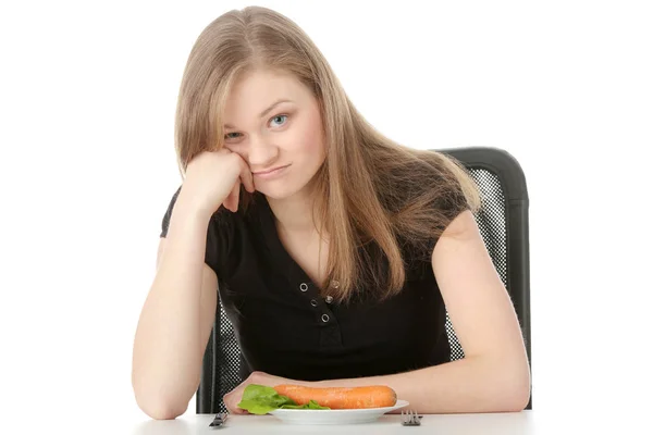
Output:
<svg viewBox="0 0 653 435">
<path fill-rule="evenodd" d="M 176 92 L 202 28 L 246 4 L 2 3 L 4 415 L 144 417 L 132 340 L 180 183 Z M 500 147 L 520 162 L 531 198 L 534 409 L 602 419 L 645 409 L 650 3 L 258 4 L 305 28 L 390 137 Z"/>
</svg>

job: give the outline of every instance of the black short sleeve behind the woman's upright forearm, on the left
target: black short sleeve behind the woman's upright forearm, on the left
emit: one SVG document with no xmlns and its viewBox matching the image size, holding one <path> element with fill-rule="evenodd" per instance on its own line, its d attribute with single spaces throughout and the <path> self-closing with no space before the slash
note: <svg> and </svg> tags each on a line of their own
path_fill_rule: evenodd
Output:
<svg viewBox="0 0 653 435">
<path fill-rule="evenodd" d="M 160 237 L 168 236 L 168 228 L 174 211 L 174 206 L 178 198 L 181 187 L 173 194 L 168 210 L 161 220 Z M 207 227 L 207 243 L 205 252 L 205 263 L 215 272 L 220 278 L 225 278 L 231 275 L 231 265 L 227 260 L 231 259 L 234 240 L 234 222 L 232 213 L 221 209 L 213 213 Z"/>
</svg>

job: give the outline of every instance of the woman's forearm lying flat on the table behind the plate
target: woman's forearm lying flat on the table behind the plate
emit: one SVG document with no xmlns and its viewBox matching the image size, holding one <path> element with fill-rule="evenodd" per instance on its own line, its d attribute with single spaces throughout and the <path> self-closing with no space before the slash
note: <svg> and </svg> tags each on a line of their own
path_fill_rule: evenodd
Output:
<svg viewBox="0 0 653 435">
<path fill-rule="evenodd" d="M 385 376 L 333 380 L 316 386 L 387 385 L 421 413 L 520 411 L 530 394 L 528 368 L 508 370 L 480 357 Z"/>
</svg>

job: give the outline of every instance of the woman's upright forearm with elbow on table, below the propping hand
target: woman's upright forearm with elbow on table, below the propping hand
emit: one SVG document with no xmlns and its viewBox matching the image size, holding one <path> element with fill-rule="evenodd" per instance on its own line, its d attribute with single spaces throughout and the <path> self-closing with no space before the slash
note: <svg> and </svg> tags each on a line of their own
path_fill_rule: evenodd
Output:
<svg viewBox="0 0 653 435">
<path fill-rule="evenodd" d="M 150 414 L 182 413 L 197 388 L 207 226 L 180 196 L 134 340 L 134 391 Z"/>
</svg>

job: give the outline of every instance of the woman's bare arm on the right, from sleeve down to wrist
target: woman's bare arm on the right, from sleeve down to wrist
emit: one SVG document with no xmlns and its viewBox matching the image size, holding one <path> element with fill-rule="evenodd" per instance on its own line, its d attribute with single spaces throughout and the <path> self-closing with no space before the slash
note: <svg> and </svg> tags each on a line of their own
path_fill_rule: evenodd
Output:
<svg viewBox="0 0 653 435">
<path fill-rule="evenodd" d="M 384 384 L 422 413 L 522 410 L 530 397 L 530 370 L 521 330 L 469 211 L 440 238 L 432 264 L 465 359 L 313 386 Z"/>
</svg>

